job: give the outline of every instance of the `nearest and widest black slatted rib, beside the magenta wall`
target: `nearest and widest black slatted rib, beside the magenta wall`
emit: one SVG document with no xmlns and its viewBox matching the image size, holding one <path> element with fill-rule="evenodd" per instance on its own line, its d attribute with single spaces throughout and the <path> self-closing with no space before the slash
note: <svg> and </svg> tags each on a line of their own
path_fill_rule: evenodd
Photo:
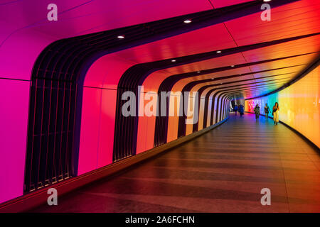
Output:
<svg viewBox="0 0 320 227">
<path fill-rule="evenodd" d="M 294 1 L 297 0 L 279 0 L 271 5 L 282 6 Z M 111 52 L 250 15 L 260 11 L 261 4 L 262 1 L 250 1 L 111 31 L 65 38 L 48 45 L 38 56 L 31 77 L 25 192 L 31 190 L 31 184 L 33 189 L 37 189 L 36 184 L 43 185 L 46 181 L 50 184 L 53 178 L 64 179 L 64 175 L 77 175 L 82 85 L 92 62 Z M 186 16 L 192 18 L 193 23 L 183 23 Z M 117 39 L 119 34 L 125 35 L 125 38 Z M 72 153 L 69 153 L 69 150 L 73 150 Z M 43 165 L 47 160 L 50 161 L 50 166 Z"/>
</svg>

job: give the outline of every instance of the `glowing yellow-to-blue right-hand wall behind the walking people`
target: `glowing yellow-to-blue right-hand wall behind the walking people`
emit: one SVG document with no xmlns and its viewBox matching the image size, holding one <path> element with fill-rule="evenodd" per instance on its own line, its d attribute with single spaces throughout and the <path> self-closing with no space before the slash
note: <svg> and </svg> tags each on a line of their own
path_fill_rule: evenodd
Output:
<svg viewBox="0 0 320 227">
<path fill-rule="evenodd" d="M 258 99 L 245 100 L 245 111 L 253 112 L 256 104 L 264 113 L 265 104 L 272 110 L 279 103 L 279 121 L 302 133 L 320 148 L 320 67 L 289 87 Z M 271 115 L 271 114 L 270 114 Z"/>
</svg>

